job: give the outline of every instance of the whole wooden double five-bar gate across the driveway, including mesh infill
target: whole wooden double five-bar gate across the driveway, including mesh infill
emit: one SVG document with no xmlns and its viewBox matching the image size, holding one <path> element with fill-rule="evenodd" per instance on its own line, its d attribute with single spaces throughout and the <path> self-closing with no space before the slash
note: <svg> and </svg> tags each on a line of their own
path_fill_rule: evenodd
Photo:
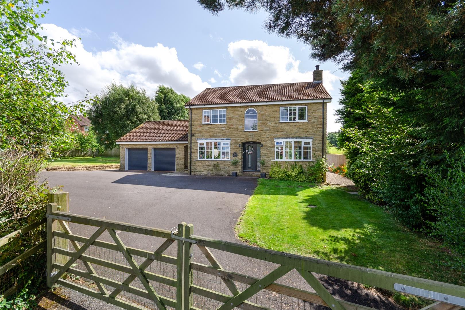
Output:
<svg viewBox="0 0 465 310">
<path fill-rule="evenodd" d="M 47 285 L 60 284 L 124 309 L 305 310 L 315 304 L 335 310 L 372 309 L 335 298 L 318 274 L 432 300 L 424 310 L 465 307 L 465 287 L 458 285 L 200 237 L 193 234 L 192 224 L 167 231 L 58 210 L 56 203 L 47 205 Z M 86 227 L 79 231 L 90 237 L 74 234 L 70 226 Z M 134 234 L 147 247 L 157 246 L 127 246 L 125 240 Z M 153 243 L 146 241 L 150 238 Z M 264 261 L 269 272 L 252 277 L 226 270 L 211 249 L 217 257 L 230 253 L 247 262 Z M 194 259 L 194 250 L 201 253 L 199 259 L 197 254 Z M 311 290 L 288 285 L 297 276 Z"/>
</svg>

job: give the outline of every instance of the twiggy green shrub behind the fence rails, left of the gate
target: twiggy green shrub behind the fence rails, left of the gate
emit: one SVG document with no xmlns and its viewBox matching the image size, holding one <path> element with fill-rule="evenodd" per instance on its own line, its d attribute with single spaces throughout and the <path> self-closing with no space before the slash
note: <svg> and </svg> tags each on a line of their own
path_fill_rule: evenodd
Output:
<svg viewBox="0 0 465 310">
<path fill-rule="evenodd" d="M 38 183 L 43 169 L 42 152 L 12 147 L 0 153 L 0 237 L 45 217 L 47 193 L 55 189 Z M 46 237 L 45 228 L 35 229 L 0 247 L 0 265 L 6 264 Z M 26 258 L 0 276 L 0 290 L 18 284 L 19 291 L 0 300 L 0 309 L 29 309 L 45 282 L 45 250 Z"/>
</svg>

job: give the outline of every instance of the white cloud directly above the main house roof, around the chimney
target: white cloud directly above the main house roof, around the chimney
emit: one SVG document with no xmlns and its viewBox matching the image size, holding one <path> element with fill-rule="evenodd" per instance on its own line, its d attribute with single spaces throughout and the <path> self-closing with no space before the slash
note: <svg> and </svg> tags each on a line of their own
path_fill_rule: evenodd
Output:
<svg viewBox="0 0 465 310">
<path fill-rule="evenodd" d="M 259 40 L 240 40 L 228 44 L 235 65 L 229 74 L 234 85 L 307 82 L 313 80 L 313 68 L 300 71 L 300 61 L 286 46 L 270 46 Z M 339 85 L 339 77 L 325 70 L 323 84 L 328 92 Z"/>
</svg>

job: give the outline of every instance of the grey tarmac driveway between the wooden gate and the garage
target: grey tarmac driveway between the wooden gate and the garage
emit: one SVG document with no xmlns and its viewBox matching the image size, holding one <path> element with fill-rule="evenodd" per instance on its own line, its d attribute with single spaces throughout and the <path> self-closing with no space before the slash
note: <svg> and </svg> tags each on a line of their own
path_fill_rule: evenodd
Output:
<svg viewBox="0 0 465 310">
<path fill-rule="evenodd" d="M 69 192 L 71 213 L 168 230 L 192 223 L 195 234 L 226 241 L 237 240 L 233 227 L 257 186 L 255 178 L 154 171 L 44 171 L 44 180 Z"/>
</svg>

